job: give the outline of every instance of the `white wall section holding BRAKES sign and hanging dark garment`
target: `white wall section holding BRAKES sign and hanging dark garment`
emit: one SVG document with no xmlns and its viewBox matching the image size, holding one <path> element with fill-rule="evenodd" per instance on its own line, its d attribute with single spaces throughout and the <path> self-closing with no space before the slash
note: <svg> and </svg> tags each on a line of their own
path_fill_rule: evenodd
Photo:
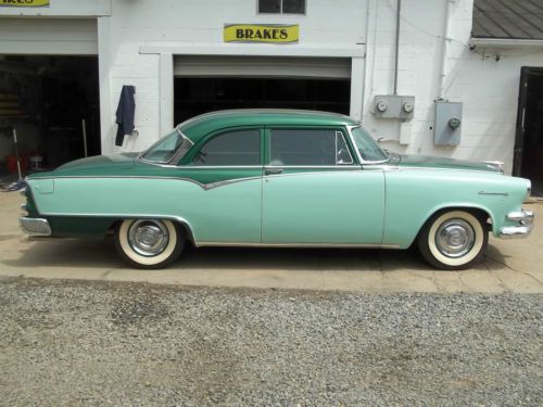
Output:
<svg viewBox="0 0 543 407">
<path fill-rule="evenodd" d="M 160 55 L 139 53 L 141 46 L 232 47 L 223 42 L 225 24 L 299 24 L 301 47 L 344 47 L 365 42 L 366 0 L 307 0 L 306 15 L 263 15 L 256 0 L 115 0 L 111 16 L 99 21 L 102 86 L 102 149 L 142 150 L 161 135 Z M 260 44 L 263 50 L 299 47 Z M 233 46 L 236 47 L 236 46 Z M 101 51 L 102 52 L 102 51 Z M 240 51 L 242 52 L 242 50 Z M 265 52 L 265 51 L 264 51 Z M 136 86 L 137 138 L 113 147 L 114 113 L 123 85 Z M 105 105 L 105 104 L 109 104 Z"/>
</svg>

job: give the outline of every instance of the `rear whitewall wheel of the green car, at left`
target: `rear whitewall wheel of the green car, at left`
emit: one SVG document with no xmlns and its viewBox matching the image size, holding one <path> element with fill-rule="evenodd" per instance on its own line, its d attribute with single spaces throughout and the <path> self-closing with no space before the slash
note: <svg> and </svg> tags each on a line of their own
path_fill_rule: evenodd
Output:
<svg viewBox="0 0 543 407">
<path fill-rule="evenodd" d="M 164 268 L 185 246 L 180 228 L 172 220 L 126 219 L 115 231 L 115 249 L 136 268 Z"/>
</svg>

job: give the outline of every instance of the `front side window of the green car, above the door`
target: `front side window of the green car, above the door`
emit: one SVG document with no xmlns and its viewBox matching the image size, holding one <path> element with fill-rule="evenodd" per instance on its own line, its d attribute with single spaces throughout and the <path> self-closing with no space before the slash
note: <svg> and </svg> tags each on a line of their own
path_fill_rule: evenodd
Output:
<svg viewBox="0 0 543 407">
<path fill-rule="evenodd" d="M 270 165 L 353 164 L 343 132 L 334 129 L 273 129 Z"/>
</svg>

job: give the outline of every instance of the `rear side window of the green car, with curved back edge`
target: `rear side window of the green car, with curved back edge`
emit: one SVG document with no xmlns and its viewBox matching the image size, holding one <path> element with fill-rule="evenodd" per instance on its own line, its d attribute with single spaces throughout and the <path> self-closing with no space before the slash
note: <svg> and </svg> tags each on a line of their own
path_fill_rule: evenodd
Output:
<svg viewBox="0 0 543 407">
<path fill-rule="evenodd" d="M 192 165 L 261 165 L 258 129 L 224 132 L 207 141 L 192 158 Z"/>
</svg>

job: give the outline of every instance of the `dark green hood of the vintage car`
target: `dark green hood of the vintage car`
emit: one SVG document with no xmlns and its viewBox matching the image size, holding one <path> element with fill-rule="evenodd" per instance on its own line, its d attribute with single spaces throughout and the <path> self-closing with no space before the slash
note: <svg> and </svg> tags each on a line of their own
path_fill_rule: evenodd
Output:
<svg viewBox="0 0 543 407">
<path fill-rule="evenodd" d="M 439 168 L 439 169 L 464 169 L 473 171 L 487 171 L 502 174 L 501 165 L 497 163 L 483 163 L 426 155 L 400 155 L 397 162 L 400 167 Z"/>
</svg>

